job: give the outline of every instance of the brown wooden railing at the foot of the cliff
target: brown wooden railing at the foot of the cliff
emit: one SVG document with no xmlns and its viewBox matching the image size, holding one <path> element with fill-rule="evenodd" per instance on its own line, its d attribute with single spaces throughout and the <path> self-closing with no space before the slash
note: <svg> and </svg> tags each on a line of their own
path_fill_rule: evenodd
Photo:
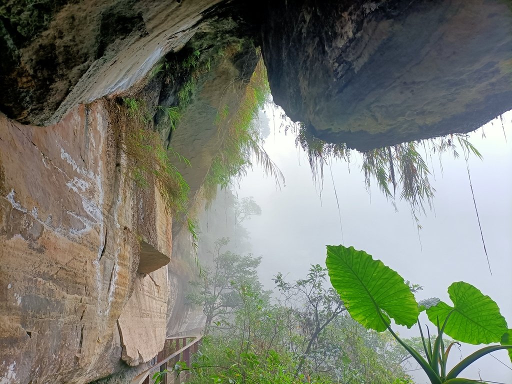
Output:
<svg viewBox="0 0 512 384">
<path fill-rule="evenodd" d="M 178 361 L 184 361 L 187 367 L 189 367 L 191 357 L 199 350 L 201 339 L 202 336 L 169 337 L 165 339 L 163 350 L 155 357 L 155 364 L 135 377 L 131 384 L 152 384 L 154 382 L 152 377 L 155 372 L 164 372 L 166 369 L 172 371 Z M 180 380 L 186 377 L 186 374 L 186 372 L 181 374 L 168 372 L 163 374 L 161 383 L 179 383 Z"/>
</svg>

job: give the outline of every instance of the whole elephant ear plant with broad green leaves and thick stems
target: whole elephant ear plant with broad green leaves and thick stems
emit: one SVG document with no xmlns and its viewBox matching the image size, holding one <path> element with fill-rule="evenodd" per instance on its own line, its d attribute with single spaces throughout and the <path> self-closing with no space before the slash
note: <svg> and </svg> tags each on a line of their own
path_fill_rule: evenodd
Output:
<svg viewBox="0 0 512 384">
<path fill-rule="evenodd" d="M 448 293 L 454 303 L 453 307 L 439 299 L 417 304 L 414 297 L 411 298 L 406 293 L 410 293 L 410 288 L 398 273 L 364 251 L 342 245 L 328 246 L 326 263 L 331 283 L 345 301 L 352 317 L 367 328 L 378 331 L 387 329 L 418 362 L 432 384 L 480 382 L 459 379 L 458 376 L 478 358 L 496 350 L 512 349 L 509 343 L 511 330 L 508 329 L 497 304 L 471 284 L 457 282 L 449 287 Z M 412 302 L 416 305 L 414 309 Z M 417 318 L 420 311 L 426 311 L 429 320 L 437 327 L 437 337 L 433 344 L 430 335 L 426 339 L 423 335 Z M 416 319 L 412 319 L 412 314 Z M 391 329 L 389 317 L 396 323 L 409 327 L 418 324 L 426 357 L 398 337 Z M 478 350 L 447 372 L 446 362 L 456 342 L 445 348 L 443 333 L 455 340 L 471 344 L 501 344 Z"/>
</svg>

